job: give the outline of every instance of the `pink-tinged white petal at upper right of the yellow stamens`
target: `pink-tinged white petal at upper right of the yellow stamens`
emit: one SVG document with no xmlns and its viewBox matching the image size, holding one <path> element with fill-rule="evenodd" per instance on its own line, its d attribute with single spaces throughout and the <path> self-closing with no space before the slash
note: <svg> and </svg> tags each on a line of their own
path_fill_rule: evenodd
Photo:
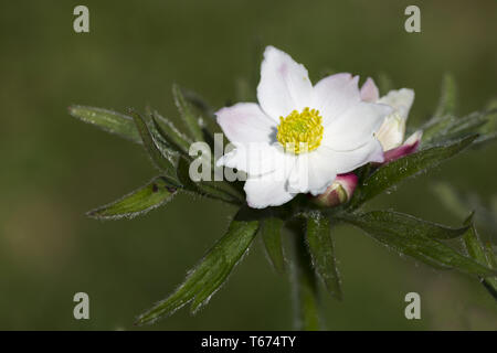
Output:
<svg viewBox="0 0 497 353">
<path fill-rule="evenodd" d="M 325 127 L 361 100 L 358 82 L 358 76 L 341 73 L 325 77 L 314 86 L 311 107 L 319 110 Z"/>
</svg>

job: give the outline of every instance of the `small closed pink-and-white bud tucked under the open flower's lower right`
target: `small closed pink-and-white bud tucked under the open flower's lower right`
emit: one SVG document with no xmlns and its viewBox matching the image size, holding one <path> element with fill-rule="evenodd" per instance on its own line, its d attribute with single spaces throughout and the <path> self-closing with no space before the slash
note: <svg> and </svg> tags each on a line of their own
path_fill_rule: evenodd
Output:
<svg viewBox="0 0 497 353">
<path fill-rule="evenodd" d="M 352 197 L 357 182 L 357 175 L 353 173 L 339 174 L 322 194 L 310 199 L 315 204 L 322 207 L 338 206 Z"/>
</svg>

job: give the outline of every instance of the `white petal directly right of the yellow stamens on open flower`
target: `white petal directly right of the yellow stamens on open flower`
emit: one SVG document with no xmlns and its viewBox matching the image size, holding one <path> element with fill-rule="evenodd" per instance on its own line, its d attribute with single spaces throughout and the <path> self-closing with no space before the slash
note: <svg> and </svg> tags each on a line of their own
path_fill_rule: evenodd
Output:
<svg viewBox="0 0 497 353">
<path fill-rule="evenodd" d="M 360 101 L 325 127 L 321 146 L 336 151 L 355 150 L 371 140 L 392 108 Z"/>
</svg>

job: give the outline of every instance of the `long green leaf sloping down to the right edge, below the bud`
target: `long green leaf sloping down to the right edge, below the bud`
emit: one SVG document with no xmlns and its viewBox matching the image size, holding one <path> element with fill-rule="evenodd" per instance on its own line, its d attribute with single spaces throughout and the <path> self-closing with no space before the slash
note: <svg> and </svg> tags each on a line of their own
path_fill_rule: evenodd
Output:
<svg viewBox="0 0 497 353">
<path fill-rule="evenodd" d="M 452 247 L 433 239 L 420 229 L 394 226 L 384 221 L 383 211 L 364 214 L 342 215 L 341 220 L 358 226 L 384 246 L 411 256 L 437 268 L 454 268 L 463 272 L 482 277 L 495 275 L 496 271 L 466 257 Z M 411 221 L 410 221 L 411 222 Z M 420 225 L 421 229 L 426 229 Z"/>
</svg>

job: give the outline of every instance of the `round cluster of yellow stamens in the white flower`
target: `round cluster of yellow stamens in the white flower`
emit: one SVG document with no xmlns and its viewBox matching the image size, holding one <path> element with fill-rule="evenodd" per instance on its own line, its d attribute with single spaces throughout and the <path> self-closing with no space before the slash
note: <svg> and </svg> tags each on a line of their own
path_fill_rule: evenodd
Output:
<svg viewBox="0 0 497 353">
<path fill-rule="evenodd" d="M 306 107 L 302 113 L 294 110 L 286 118 L 279 117 L 276 138 L 285 151 L 299 154 L 317 149 L 322 140 L 322 131 L 319 110 Z"/>
</svg>

